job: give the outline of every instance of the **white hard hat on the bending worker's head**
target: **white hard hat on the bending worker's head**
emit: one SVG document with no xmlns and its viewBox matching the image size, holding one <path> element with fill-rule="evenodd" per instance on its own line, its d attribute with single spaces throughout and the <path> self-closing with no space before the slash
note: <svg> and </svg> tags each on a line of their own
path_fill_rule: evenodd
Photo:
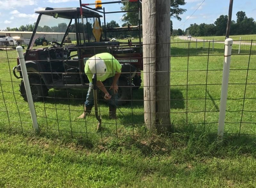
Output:
<svg viewBox="0 0 256 188">
<path fill-rule="evenodd" d="M 101 78 L 106 74 L 107 67 L 105 62 L 100 57 L 91 57 L 88 59 L 89 69 L 92 74 L 97 74 L 97 78 Z"/>
</svg>

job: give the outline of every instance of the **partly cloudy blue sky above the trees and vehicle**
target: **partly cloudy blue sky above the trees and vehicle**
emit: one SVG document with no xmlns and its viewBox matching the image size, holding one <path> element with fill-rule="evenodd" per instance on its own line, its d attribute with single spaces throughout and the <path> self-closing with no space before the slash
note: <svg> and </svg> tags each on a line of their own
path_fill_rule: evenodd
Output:
<svg viewBox="0 0 256 188">
<path fill-rule="evenodd" d="M 102 2 L 117 0 L 102 0 Z M 95 0 L 82 0 L 82 3 L 94 3 Z M 230 0 L 185 0 L 181 6 L 187 11 L 180 17 L 181 21 L 172 19 L 173 29 L 186 29 L 190 24 L 213 24 L 220 15 L 227 15 Z M 200 6 L 201 4 L 201 6 Z M 33 24 L 38 14 L 35 10 L 43 7 L 79 7 L 79 0 L 0 0 L 0 30 L 19 28 L 21 25 Z M 103 5 L 106 12 L 119 11 L 121 4 Z M 94 6 L 92 6 L 94 8 Z M 244 11 L 248 17 L 256 19 L 256 0 L 234 0 L 232 20 L 236 12 Z M 122 13 L 108 14 L 106 21 L 115 20 L 122 25 Z"/>
</svg>

